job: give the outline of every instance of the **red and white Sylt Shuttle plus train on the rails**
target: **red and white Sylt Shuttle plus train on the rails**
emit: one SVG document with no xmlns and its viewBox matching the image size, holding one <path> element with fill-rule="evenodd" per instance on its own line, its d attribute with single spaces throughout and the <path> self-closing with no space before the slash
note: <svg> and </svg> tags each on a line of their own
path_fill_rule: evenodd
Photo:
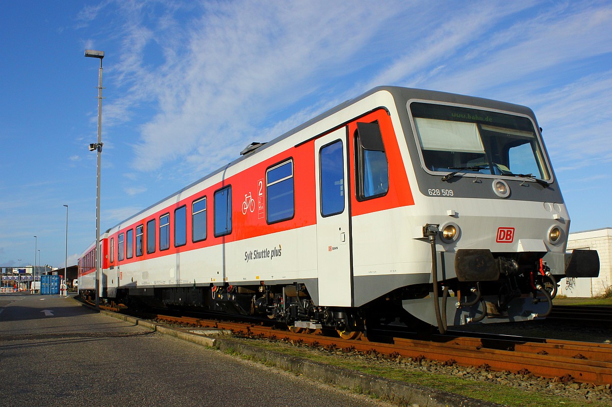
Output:
<svg viewBox="0 0 612 407">
<path fill-rule="evenodd" d="M 346 338 L 446 332 L 546 317 L 559 279 L 597 276 L 569 225 L 531 109 L 381 86 L 106 230 L 79 290 Z"/>
</svg>

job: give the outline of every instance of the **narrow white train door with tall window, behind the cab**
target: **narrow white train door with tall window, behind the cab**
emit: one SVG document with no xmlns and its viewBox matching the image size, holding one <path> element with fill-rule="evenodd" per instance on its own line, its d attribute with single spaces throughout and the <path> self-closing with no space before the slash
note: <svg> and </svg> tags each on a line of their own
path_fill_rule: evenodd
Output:
<svg viewBox="0 0 612 407">
<path fill-rule="evenodd" d="M 315 140 L 319 305 L 350 307 L 353 292 L 347 130 Z"/>
</svg>

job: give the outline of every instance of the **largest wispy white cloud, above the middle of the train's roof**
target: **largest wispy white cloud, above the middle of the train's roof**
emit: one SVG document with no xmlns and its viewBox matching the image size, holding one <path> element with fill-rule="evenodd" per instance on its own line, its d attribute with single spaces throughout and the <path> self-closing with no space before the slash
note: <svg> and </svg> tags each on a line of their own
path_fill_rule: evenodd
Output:
<svg viewBox="0 0 612 407">
<path fill-rule="evenodd" d="M 351 69 L 346 60 L 394 9 L 372 13 L 369 7 L 340 2 L 326 6 L 206 3 L 199 9 L 201 16 L 176 36 L 168 31 L 176 28 L 173 10 L 159 19 L 157 29 L 150 29 L 140 20 L 142 10 L 126 8 L 130 24 L 118 34 L 126 39 L 124 56 L 114 69 L 116 80 L 130 89 L 108 108 L 108 117 L 111 123 L 127 120 L 133 106 L 151 100 L 159 106 L 141 127 L 135 168 L 149 171 L 188 156 L 187 161 L 207 161 L 210 169 L 235 157 L 245 135 L 253 134 L 267 116 L 316 89 L 314 75 L 345 75 Z M 143 60 L 144 48 L 151 46 L 161 49 L 160 65 Z M 223 153 L 210 161 L 211 150 Z"/>
</svg>

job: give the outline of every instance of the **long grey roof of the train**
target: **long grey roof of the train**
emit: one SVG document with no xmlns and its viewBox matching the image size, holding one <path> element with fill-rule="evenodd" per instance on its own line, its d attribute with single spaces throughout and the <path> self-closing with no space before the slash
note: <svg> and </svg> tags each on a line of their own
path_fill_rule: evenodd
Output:
<svg viewBox="0 0 612 407">
<path fill-rule="evenodd" d="M 201 183 L 204 180 L 207 180 L 208 178 L 214 177 L 215 175 L 219 174 L 220 172 L 225 171 L 229 167 L 234 166 L 237 163 L 240 163 L 241 161 L 245 160 L 247 157 L 250 157 L 253 154 L 259 153 L 259 152 L 267 149 L 268 147 L 271 147 L 272 145 L 276 144 L 277 142 L 282 141 L 282 140 L 292 136 L 293 134 L 296 134 L 299 131 L 304 130 L 305 128 L 308 128 L 308 127 L 312 126 L 314 123 L 320 122 L 321 120 L 325 119 L 326 117 L 332 116 L 333 114 L 335 114 L 335 113 L 337 113 L 337 112 L 347 108 L 348 106 L 353 105 L 354 103 L 357 103 L 360 100 L 363 100 L 363 99 L 367 98 L 370 95 L 375 94 L 376 92 L 381 92 L 381 91 L 384 91 L 384 90 L 386 90 L 387 92 L 392 94 L 396 101 L 397 100 L 404 101 L 404 100 L 409 100 L 409 99 L 436 100 L 436 101 L 442 101 L 442 102 L 446 102 L 446 103 L 461 103 L 461 104 L 475 105 L 475 106 L 486 106 L 486 107 L 494 108 L 494 109 L 507 110 L 507 111 L 516 111 L 516 112 L 520 112 L 520 113 L 523 113 L 523 114 L 528 114 L 529 116 L 533 116 L 533 112 L 531 111 L 531 109 L 527 108 L 526 106 L 515 105 L 513 103 L 507 103 L 507 102 L 502 102 L 502 101 L 493 100 L 493 99 L 486 99 L 486 98 L 480 98 L 480 97 L 474 97 L 474 96 L 468 96 L 468 95 L 451 94 L 451 93 L 448 93 L 448 92 L 440 92 L 438 90 L 415 89 L 415 88 L 400 87 L 400 86 L 377 86 L 377 87 L 374 87 L 373 89 L 368 90 L 364 94 L 359 95 L 358 97 L 346 100 L 345 102 L 340 103 L 340 105 L 337 105 L 334 108 L 331 108 L 331 109 L 329 109 L 329 110 L 319 114 L 318 116 L 313 117 L 312 119 L 308 120 L 307 122 L 302 123 L 301 125 L 297 126 L 296 128 L 293 128 L 292 130 L 289 130 L 286 133 L 281 134 L 280 136 L 272 139 L 271 141 L 263 142 L 263 143 L 254 142 L 254 143 L 248 145 L 247 148 L 242 150 L 241 156 L 236 158 L 236 160 L 231 161 L 228 164 L 225 164 L 225 166 L 222 166 L 222 167 L 218 168 L 217 170 L 210 172 L 207 175 L 204 175 L 204 177 L 201 177 L 198 180 L 195 180 L 194 182 L 190 183 L 189 185 L 185 186 L 184 188 L 181 188 L 178 191 L 174 192 L 173 194 L 170 194 L 170 195 L 166 196 L 165 198 L 160 199 L 159 201 L 155 202 L 155 204 L 149 205 L 149 207 L 146 207 L 143 210 L 141 210 L 141 211 L 135 213 L 134 215 L 130 216 L 129 218 L 124 219 L 123 221 L 119 222 L 118 224 L 115 224 L 113 227 L 110 227 L 109 229 L 106 229 L 105 233 L 109 233 L 110 230 L 113 229 L 114 227 L 121 226 L 121 224 L 124 224 L 126 221 L 129 221 L 132 218 L 136 218 L 137 216 L 141 215 L 142 213 L 150 210 L 151 208 L 156 207 L 157 205 L 161 204 L 162 202 L 165 202 L 166 200 L 170 199 L 171 197 L 174 197 L 174 196 L 176 196 L 178 194 L 181 194 L 182 192 L 186 191 L 189 188 L 192 188 L 193 186 L 197 185 L 198 183 Z M 534 117 L 534 119 L 535 119 L 535 117 Z M 253 148 L 252 148 L 252 150 L 247 151 L 249 149 L 249 147 L 253 147 Z"/>
</svg>

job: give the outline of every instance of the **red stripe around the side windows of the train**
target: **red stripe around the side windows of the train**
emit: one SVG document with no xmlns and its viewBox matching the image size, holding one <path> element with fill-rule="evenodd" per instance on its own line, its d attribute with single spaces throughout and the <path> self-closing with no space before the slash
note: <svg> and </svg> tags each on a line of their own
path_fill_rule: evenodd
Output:
<svg viewBox="0 0 612 407">
<path fill-rule="evenodd" d="M 414 205 L 414 199 L 412 197 L 411 189 L 408 185 L 408 177 L 403 166 L 403 161 L 400 155 L 400 149 L 398 146 L 395 131 L 392 126 L 389 115 L 384 109 L 379 109 L 375 112 L 371 112 L 367 116 L 361 117 L 359 120 L 355 120 L 348 124 L 349 129 L 349 166 L 351 177 L 351 185 L 354 190 L 354 134 L 357 130 L 357 122 L 374 122 L 378 121 L 381 133 L 383 134 L 383 142 L 387 154 L 387 161 L 389 162 L 389 191 L 383 197 L 376 199 L 365 200 L 359 202 L 354 193 L 351 193 L 351 215 L 364 215 L 366 213 L 372 213 L 375 211 L 386 210 L 390 208 L 402 207 L 407 205 Z M 165 255 L 176 254 L 178 252 L 190 251 L 193 249 L 206 248 L 222 243 L 230 243 L 232 241 L 245 240 L 248 238 L 258 237 L 267 235 L 270 233 L 282 232 L 284 230 L 297 229 L 299 227 L 310 226 L 316 223 L 316 201 L 315 201 L 315 151 L 314 141 L 307 142 L 289 150 L 285 150 L 282 153 L 269 158 L 268 160 L 256 163 L 249 167 L 245 171 L 239 174 L 233 175 L 227 178 L 223 182 L 216 183 L 215 185 L 209 186 L 203 191 L 200 191 L 192 196 L 189 196 L 170 207 L 165 207 L 155 212 L 154 215 L 147 216 L 146 218 L 140 219 L 138 222 L 134 222 L 129 227 L 124 227 L 119 230 L 118 233 L 113 233 L 108 239 L 104 240 L 104 251 L 105 251 L 105 268 L 108 266 L 117 266 L 119 263 L 127 264 L 137 262 L 140 260 L 154 259 Z M 281 163 L 282 161 L 293 158 L 294 163 L 294 202 L 295 211 L 294 218 L 288 221 L 282 221 L 275 224 L 267 224 L 265 216 L 265 177 L 266 169 L 274 164 Z M 258 181 L 264 180 L 263 183 L 263 202 L 264 202 L 264 216 L 259 218 L 258 216 Z M 224 237 L 214 237 L 214 193 L 223 186 L 231 185 L 232 191 L 232 232 L 230 235 Z M 353 191 L 352 191 L 353 192 Z M 242 214 L 242 203 L 245 200 L 245 194 L 251 193 L 255 200 L 255 210 L 250 212 L 247 211 L 247 215 Z M 206 222 L 207 222 L 207 238 L 204 241 L 193 243 L 192 237 L 192 224 L 190 221 L 192 214 L 192 202 L 200 199 L 201 197 L 207 197 L 207 208 L 206 208 Z M 174 210 L 176 208 L 186 205 L 187 207 L 187 244 L 178 248 L 174 247 Z M 170 248 L 165 251 L 159 250 L 159 217 L 170 213 Z M 146 252 L 146 222 L 155 219 L 155 246 L 156 251 L 152 254 Z M 136 257 L 136 226 L 143 225 L 143 255 Z M 113 238 L 114 244 L 117 244 L 119 233 L 125 233 L 129 229 L 134 229 L 134 240 L 133 240 L 133 257 L 131 259 L 124 259 L 118 262 L 117 249 L 114 251 L 113 262 L 108 259 L 110 238 Z M 127 251 L 125 251 L 127 253 Z M 95 271 L 95 269 L 94 269 Z"/>
</svg>

